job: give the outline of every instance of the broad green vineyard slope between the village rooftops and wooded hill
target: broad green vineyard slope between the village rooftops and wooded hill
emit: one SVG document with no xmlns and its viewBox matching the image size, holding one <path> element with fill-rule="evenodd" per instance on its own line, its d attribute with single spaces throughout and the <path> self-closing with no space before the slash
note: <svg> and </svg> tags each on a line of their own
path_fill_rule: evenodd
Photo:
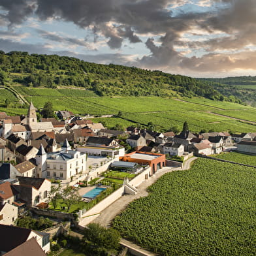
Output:
<svg viewBox="0 0 256 256">
<path fill-rule="evenodd" d="M 93 91 L 82 88 L 28 88 L 13 86 L 16 91 L 24 95 L 27 101 L 33 101 L 37 108 L 42 108 L 46 101 L 51 101 L 54 110 L 70 110 L 74 114 L 118 114 L 121 118 L 99 118 L 94 121 L 103 121 L 106 127 L 114 127 L 117 123 L 124 128 L 129 125 L 148 125 L 152 122 L 158 131 L 167 131 L 176 126 L 182 129 L 184 121 L 188 121 L 191 131 L 199 132 L 202 129 L 209 131 L 232 131 L 233 133 L 255 132 L 256 126 L 231 118 L 211 114 L 224 114 L 234 118 L 255 121 L 256 108 L 221 101 L 211 101 L 204 98 L 170 99 L 169 97 L 99 97 Z M 18 104 L 15 96 L 3 89 L 0 103 L 8 97 L 12 104 Z M 7 96 L 5 96 L 7 95 Z M 25 114 L 25 108 L 0 107 L 0 111 L 8 114 Z"/>
</svg>

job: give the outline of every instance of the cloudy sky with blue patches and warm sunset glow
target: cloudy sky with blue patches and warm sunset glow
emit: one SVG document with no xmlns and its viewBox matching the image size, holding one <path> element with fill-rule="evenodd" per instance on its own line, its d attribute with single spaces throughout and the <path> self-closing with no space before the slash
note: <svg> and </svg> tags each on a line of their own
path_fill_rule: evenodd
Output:
<svg viewBox="0 0 256 256">
<path fill-rule="evenodd" d="M 0 0 L 0 50 L 256 75 L 256 0 Z"/>
</svg>

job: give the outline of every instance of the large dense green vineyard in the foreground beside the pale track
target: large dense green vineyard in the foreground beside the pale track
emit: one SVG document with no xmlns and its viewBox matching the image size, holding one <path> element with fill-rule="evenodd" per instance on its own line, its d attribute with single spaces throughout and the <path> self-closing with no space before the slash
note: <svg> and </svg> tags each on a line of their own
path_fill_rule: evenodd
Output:
<svg viewBox="0 0 256 256">
<path fill-rule="evenodd" d="M 255 168 L 197 159 L 165 174 L 113 225 L 160 255 L 255 255 Z"/>
</svg>

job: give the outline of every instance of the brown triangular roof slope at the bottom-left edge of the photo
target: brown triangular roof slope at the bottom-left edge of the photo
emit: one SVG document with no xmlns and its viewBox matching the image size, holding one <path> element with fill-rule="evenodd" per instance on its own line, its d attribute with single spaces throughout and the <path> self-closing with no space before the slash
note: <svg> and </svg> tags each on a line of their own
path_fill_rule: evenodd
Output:
<svg viewBox="0 0 256 256">
<path fill-rule="evenodd" d="M 11 249 L 5 256 L 46 256 L 46 253 L 42 250 L 39 246 L 35 237 L 30 238 L 29 240 L 25 241 L 24 243 L 20 244 L 14 249 Z"/>
</svg>

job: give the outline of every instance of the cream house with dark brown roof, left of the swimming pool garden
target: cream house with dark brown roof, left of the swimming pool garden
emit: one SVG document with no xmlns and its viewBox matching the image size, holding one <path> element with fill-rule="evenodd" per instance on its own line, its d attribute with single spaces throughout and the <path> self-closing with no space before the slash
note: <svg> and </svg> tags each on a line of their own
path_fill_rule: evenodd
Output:
<svg viewBox="0 0 256 256">
<path fill-rule="evenodd" d="M 22 176 L 17 178 L 18 184 L 12 184 L 11 187 L 18 191 L 19 198 L 25 201 L 28 208 L 48 201 L 48 193 L 51 190 L 50 180 Z"/>
</svg>

